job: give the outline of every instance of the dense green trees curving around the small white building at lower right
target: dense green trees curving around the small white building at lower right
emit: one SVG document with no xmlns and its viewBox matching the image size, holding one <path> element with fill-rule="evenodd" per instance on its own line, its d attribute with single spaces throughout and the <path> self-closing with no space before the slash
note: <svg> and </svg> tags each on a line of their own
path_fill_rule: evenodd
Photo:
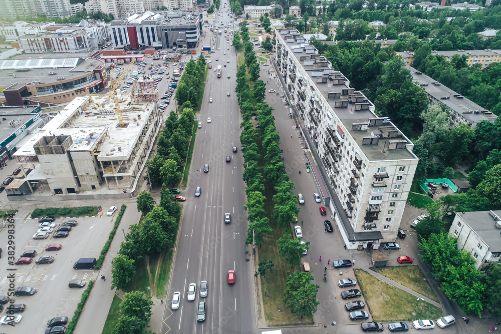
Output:
<svg viewBox="0 0 501 334">
<path fill-rule="evenodd" d="M 466 314 L 480 316 L 486 307 L 499 317 L 501 265 L 496 262 L 488 266 L 482 275 L 475 268 L 471 252 L 458 249 L 457 239 L 444 230 L 442 218 L 448 210 L 455 208 L 450 202 L 452 197 L 442 197 L 430 204 L 429 216 L 417 224 L 421 259 L 427 263 L 445 295 Z"/>
</svg>

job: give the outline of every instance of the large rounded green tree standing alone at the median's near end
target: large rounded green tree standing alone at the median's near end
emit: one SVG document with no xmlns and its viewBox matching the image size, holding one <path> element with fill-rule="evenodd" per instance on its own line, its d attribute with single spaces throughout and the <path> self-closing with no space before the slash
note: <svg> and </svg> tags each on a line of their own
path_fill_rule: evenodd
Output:
<svg viewBox="0 0 501 334">
<path fill-rule="evenodd" d="M 317 286 L 310 283 L 312 280 L 311 272 L 295 271 L 287 276 L 284 302 L 292 313 L 301 318 L 312 318 L 320 303 L 317 299 Z"/>
</svg>

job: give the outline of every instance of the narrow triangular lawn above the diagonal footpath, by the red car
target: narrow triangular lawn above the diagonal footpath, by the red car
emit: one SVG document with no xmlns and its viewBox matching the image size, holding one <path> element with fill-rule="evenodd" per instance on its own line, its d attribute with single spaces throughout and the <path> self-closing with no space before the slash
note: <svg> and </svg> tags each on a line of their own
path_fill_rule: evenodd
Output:
<svg viewBox="0 0 501 334">
<path fill-rule="evenodd" d="M 431 288 L 430 284 L 424 278 L 421 269 L 417 265 L 399 265 L 392 267 L 372 267 L 371 270 L 380 273 L 381 275 L 394 280 L 409 289 L 422 294 L 425 297 L 430 298 L 436 302 L 438 300 L 435 292 Z"/>
</svg>

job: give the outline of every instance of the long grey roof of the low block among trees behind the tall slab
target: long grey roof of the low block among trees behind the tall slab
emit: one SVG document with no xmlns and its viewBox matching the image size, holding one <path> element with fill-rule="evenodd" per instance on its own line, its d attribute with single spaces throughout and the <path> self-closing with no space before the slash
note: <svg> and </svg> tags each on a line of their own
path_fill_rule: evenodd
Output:
<svg viewBox="0 0 501 334">
<path fill-rule="evenodd" d="M 445 104 L 451 110 L 454 110 L 461 116 L 467 118 L 471 122 L 480 122 L 480 121 L 493 122 L 497 118 L 497 116 L 494 114 L 485 115 L 482 112 L 485 111 L 485 108 L 480 107 L 479 105 L 477 105 L 471 100 L 466 99 L 465 97 L 461 98 L 461 95 L 457 94 L 450 88 L 444 85 L 439 85 L 439 86 L 433 85 L 433 83 L 437 83 L 437 81 L 431 79 L 425 74 L 416 74 L 416 72 L 418 72 L 416 69 L 408 65 L 406 65 L 405 68 L 410 71 L 413 82 L 417 82 L 418 85 L 427 85 L 427 86 L 421 86 L 422 88 L 424 88 L 426 93 L 428 93 L 438 101 Z M 445 97 L 447 97 L 447 99 L 442 99 Z M 475 110 L 478 111 L 479 113 L 475 113 Z M 463 114 L 463 112 L 466 111 L 472 111 L 472 112 Z"/>
</svg>

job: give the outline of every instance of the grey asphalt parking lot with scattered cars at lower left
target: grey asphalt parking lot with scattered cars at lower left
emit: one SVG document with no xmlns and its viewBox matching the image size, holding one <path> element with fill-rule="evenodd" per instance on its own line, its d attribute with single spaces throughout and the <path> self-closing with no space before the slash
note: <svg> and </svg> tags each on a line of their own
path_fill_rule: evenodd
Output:
<svg viewBox="0 0 501 334">
<path fill-rule="evenodd" d="M 68 316 L 70 321 L 74 311 L 80 302 L 83 288 L 70 288 L 68 283 L 72 279 L 84 280 L 86 283 L 91 279 L 98 278 L 98 273 L 93 269 L 75 270 L 73 264 L 82 257 L 99 257 L 104 243 L 113 227 L 113 222 L 117 212 L 113 217 L 106 216 L 111 201 L 104 209 L 102 217 L 88 218 L 67 218 L 57 219 L 56 228 L 63 221 L 77 220 L 77 226 L 72 227 L 67 237 L 54 238 L 54 231 L 49 234 L 47 239 L 35 240 L 33 235 L 37 233 L 39 227 L 38 219 L 26 219 L 24 217 L 28 212 L 19 212 L 15 217 L 15 258 L 18 259 L 21 254 L 27 250 L 35 250 L 31 263 L 18 264 L 8 263 L 8 244 L 7 229 L 4 228 L 0 233 L 0 243 L 4 248 L 3 256 L 0 259 L 2 270 L 2 289 L 0 295 L 8 294 L 9 273 L 11 269 L 15 270 L 15 287 L 30 286 L 37 289 L 37 293 L 32 296 L 13 296 L 14 303 L 26 304 L 26 309 L 22 314 L 21 321 L 16 324 L 15 332 L 18 333 L 43 333 L 47 328 L 47 321 L 56 316 Z M 50 244 L 61 244 L 60 250 L 46 250 Z M 41 256 L 51 255 L 54 257 L 53 263 L 36 264 L 36 260 Z M 103 270 L 109 272 L 110 264 L 105 263 Z M 111 274 L 110 274 L 111 279 Z M 101 280 L 96 284 L 101 283 Z M 8 304 L 4 305 L 8 306 Z M 4 310 L 5 311 L 5 310 Z M 4 315 L 4 314 L 3 314 Z"/>
</svg>

